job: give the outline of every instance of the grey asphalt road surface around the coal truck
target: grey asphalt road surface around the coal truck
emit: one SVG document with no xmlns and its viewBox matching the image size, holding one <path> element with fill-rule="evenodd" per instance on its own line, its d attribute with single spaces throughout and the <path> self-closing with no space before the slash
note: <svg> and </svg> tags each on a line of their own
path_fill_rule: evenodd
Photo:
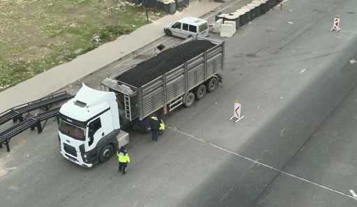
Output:
<svg viewBox="0 0 357 207">
<path fill-rule="evenodd" d="M 215 93 L 165 116 L 158 142 L 130 132 L 125 176 L 114 158 L 91 169 L 61 158 L 55 121 L 41 135 L 24 132 L 11 153 L 0 151 L 1 205 L 357 206 L 356 8 L 354 0 L 290 0 L 239 29 L 227 39 Z M 330 31 L 335 15 L 339 33 Z M 158 42 L 82 81 L 98 88 Z M 238 123 L 229 121 L 236 99 Z"/>
</svg>

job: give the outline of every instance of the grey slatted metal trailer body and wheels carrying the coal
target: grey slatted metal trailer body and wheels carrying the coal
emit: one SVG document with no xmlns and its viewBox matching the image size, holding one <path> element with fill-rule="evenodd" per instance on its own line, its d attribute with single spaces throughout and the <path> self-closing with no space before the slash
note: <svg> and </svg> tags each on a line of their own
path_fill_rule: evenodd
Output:
<svg viewBox="0 0 357 207">
<path fill-rule="evenodd" d="M 150 132 L 148 117 L 151 114 L 162 108 L 165 112 L 172 112 L 181 105 L 190 107 L 195 99 L 200 100 L 206 92 L 211 93 L 217 89 L 218 82 L 222 82 L 222 76 L 218 72 L 225 69 L 225 41 L 192 36 L 172 48 L 195 40 L 208 40 L 215 46 L 144 86 L 136 87 L 117 80 L 137 64 L 102 81 L 102 91 L 116 93 L 122 128 L 132 125 L 135 129 Z"/>
</svg>

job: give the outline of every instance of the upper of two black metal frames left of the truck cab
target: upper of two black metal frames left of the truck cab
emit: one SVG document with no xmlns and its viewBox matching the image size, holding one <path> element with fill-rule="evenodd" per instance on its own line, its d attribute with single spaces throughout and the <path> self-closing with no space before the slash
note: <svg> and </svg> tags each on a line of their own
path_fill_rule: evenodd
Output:
<svg viewBox="0 0 357 207">
<path fill-rule="evenodd" d="M 13 119 L 14 123 L 17 121 L 17 119 L 20 120 L 20 122 L 22 122 L 24 121 L 24 117 L 22 117 L 23 114 L 27 113 L 26 114 L 27 116 L 29 115 L 29 112 L 36 109 L 44 109 L 45 111 L 48 111 L 54 103 L 60 102 L 62 100 L 66 100 L 68 98 L 72 98 L 73 96 L 74 95 L 71 95 L 66 91 L 63 91 L 61 93 L 49 95 L 44 98 L 40 98 L 38 100 L 27 102 L 23 105 L 13 107 L 11 109 L 8 109 L 6 112 L 0 114 L 0 125 L 3 125 L 3 123 L 6 123 L 11 119 Z"/>
</svg>

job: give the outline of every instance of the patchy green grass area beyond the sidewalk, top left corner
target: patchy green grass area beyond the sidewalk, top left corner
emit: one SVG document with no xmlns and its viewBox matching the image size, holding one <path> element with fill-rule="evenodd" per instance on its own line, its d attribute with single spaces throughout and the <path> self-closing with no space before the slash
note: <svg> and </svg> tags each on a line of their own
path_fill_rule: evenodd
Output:
<svg viewBox="0 0 357 207">
<path fill-rule="evenodd" d="M 2 0 L 0 20 L 0 91 L 150 23 L 124 0 Z"/>
</svg>

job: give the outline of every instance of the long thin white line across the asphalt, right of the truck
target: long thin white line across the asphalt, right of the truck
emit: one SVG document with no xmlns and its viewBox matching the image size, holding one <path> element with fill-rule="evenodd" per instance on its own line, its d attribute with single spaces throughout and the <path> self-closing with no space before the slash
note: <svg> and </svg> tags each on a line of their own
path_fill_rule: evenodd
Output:
<svg viewBox="0 0 357 207">
<path fill-rule="evenodd" d="M 356 195 L 356 197 L 352 197 L 352 196 L 350 196 L 349 194 L 345 194 L 344 192 L 340 192 L 340 191 L 337 191 L 337 190 L 333 190 L 333 189 L 330 188 L 330 187 L 326 187 L 326 186 L 324 186 L 324 185 L 320 185 L 320 184 L 318 184 L 318 183 L 314 183 L 314 182 L 312 182 L 312 181 L 309 181 L 309 180 L 307 180 L 307 179 L 305 179 L 305 178 L 301 178 L 301 177 L 299 177 L 299 176 L 294 176 L 293 174 L 289 174 L 289 173 L 287 173 L 286 171 L 282 171 L 282 170 L 280 170 L 280 169 L 276 169 L 275 167 L 271 167 L 271 166 L 269 166 L 268 164 L 264 164 L 264 163 L 258 162 L 258 161 L 256 161 L 256 160 L 252 160 L 252 159 L 247 158 L 247 157 L 245 157 L 245 156 L 243 156 L 243 155 L 240 155 L 240 154 L 238 154 L 238 153 L 235 153 L 234 151 L 229 151 L 229 150 L 226 149 L 226 148 L 222 148 L 221 146 L 218 146 L 218 145 L 216 145 L 216 144 L 213 144 L 213 143 L 211 143 L 211 142 L 209 142 L 209 141 L 206 141 L 206 140 L 204 140 L 204 139 L 195 137 L 194 135 L 190 135 L 190 134 L 188 134 L 188 133 L 186 133 L 186 132 L 183 132 L 183 131 L 181 131 L 181 130 L 179 130 L 179 129 L 177 129 L 177 128 L 174 128 L 174 127 L 172 127 L 172 126 L 169 126 L 169 125 L 166 125 L 166 126 L 167 126 L 168 128 L 171 128 L 172 130 L 175 130 L 176 132 L 180 132 L 180 133 L 183 134 L 183 135 L 186 135 L 186 136 L 188 136 L 188 137 L 192 137 L 193 139 L 196 139 L 196 140 L 201 141 L 201 142 L 203 142 L 203 143 L 206 143 L 206 144 L 209 144 L 209 145 L 211 145 L 211 146 L 214 146 L 215 148 L 219 148 L 220 150 L 226 151 L 227 153 L 234 154 L 234 155 L 236 155 L 236 156 L 238 156 L 238 157 L 241 157 L 241 158 L 243 158 L 243 159 L 245 159 L 245 160 L 249 160 L 249 161 L 251 161 L 251 162 L 255 162 L 255 163 L 260 164 L 260 165 L 262 165 L 262 166 L 264 166 L 264 167 L 267 167 L 267 168 L 269 168 L 269 169 L 273 169 L 273 170 L 275 170 L 275 171 L 278 171 L 278 172 L 280 172 L 281 174 L 285 174 L 285 175 L 287 175 L 287 176 L 291 176 L 291 177 L 293 177 L 293 178 L 297 178 L 298 180 L 305 181 L 306 183 L 310 183 L 310 184 L 316 185 L 316 186 L 318 186 L 318 187 L 322 187 L 322 188 L 324 188 L 324 189 L 326 189 L 326 190 L 329 190 L 329 191 L 331 191 L 331 192 L 335 192 L 335 193 L 337 193 L 337 194 L 341 194 L 341 195 L 343 195 L 343 196 L 345 196 L 345 197 L 349 197 L 349 198 L 354 199 L 354 200 L 357 201 L 357 195 Z M 350 190 L 350 191 L 351 191 L 351 190 Z"/>
</svg>

